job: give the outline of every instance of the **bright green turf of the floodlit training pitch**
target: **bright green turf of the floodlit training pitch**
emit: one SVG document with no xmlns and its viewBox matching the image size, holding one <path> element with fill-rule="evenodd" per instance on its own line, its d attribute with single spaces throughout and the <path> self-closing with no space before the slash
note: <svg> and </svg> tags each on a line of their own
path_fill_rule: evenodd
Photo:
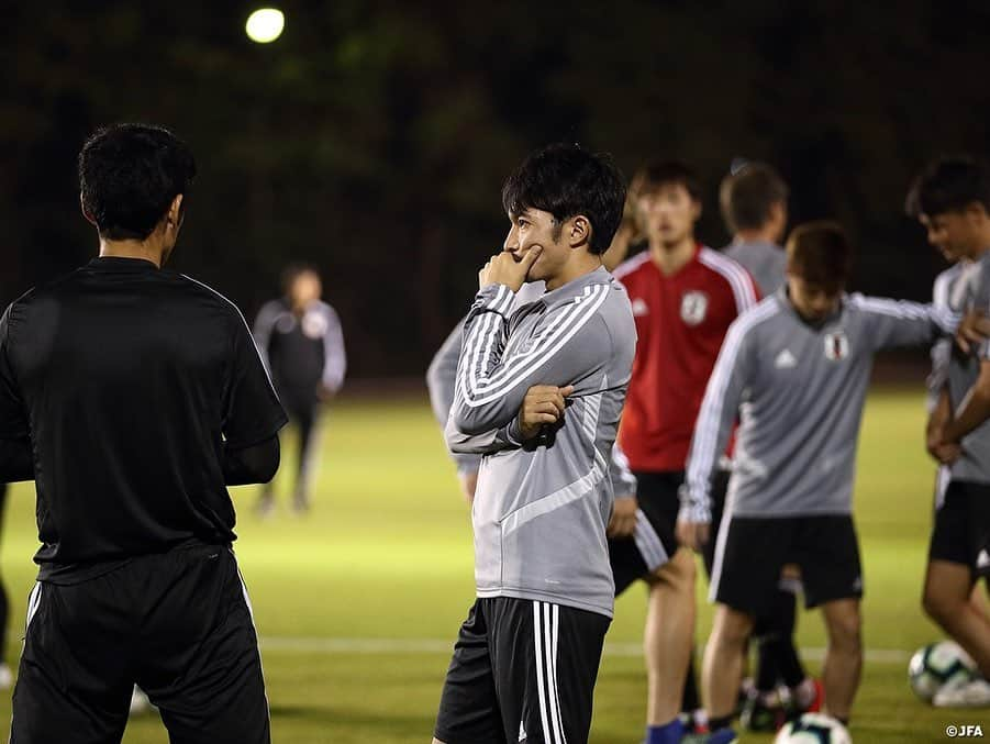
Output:
<svg viewBox="0 0 990 744">
<path fill-rule="evenodd" d="M 241 513 L 237 555 L 259 632 L 269 640 L 264 662 L 274 739 L 287 744 L 427 742 L 448 662 L 444 647 L 472 599 L 468 512 L 424 399 L 342 401 L 325 423 L 325 455 L 310 517 L 296 518 L 283 506 L 285 481 L 279 484 L 281 508 L 268 521 L 251 511 L 254 489 L 234 495 Z M 856 509 L 866 573 L 865 634 L 872 649 L 908 653 L 938 636 L 919 609 L 933 478 L 922 424 L 920 391 L 870 398 Z M 287 451 L 286 470 L 292 459 Z M 13 606 L 14 658 L 34 574 L 33 520 L 33 491 L 19 486 L 0 554 Z M 642 660 L 627 652 L 639 638 L 643 599 L 634 588 L 616 606 L 609 642 L 626 653 L 607 654 L 602 664 L 593 742 L 632 744 L 642 737 Z M 705 606 L 699 640 L 709 622 Z M 823 645 L 816 614 L 801 618 L 799 637 L 804 646 Z M 304 641 L 293 646 L 292 638 Z M 370 653 L 344 641 L 354 638 L 441 643 Z M 810 666 L 816 670 L 819 664 Z M 857 741 L 942 741 L 948 723 L 983 722 L 979 714 L 921 704 L 904 675 L 903 662 L 867 663 L 853 724 Z M 9 715 L 9 696 L 3 696 L 3 728 Z M 124 741 L 164 743 L 167 737 L 157 717 L 146 715 L 131 721 Z"/>
</svg>

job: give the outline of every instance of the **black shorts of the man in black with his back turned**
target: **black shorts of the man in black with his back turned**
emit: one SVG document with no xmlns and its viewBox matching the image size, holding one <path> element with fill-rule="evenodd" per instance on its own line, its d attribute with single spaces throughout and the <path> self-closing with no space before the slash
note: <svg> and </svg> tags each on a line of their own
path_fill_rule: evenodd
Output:
<svg viewBox="0 0 990 744">
<path fill-rule="evenodd" d="M 171 742 L 270 742 L 258 640 L 229 547 L 176 548 L 79 584 L 40 582 L 27 612 L 13 744 L 119 742 L 135 684 Z"/>
</svg>

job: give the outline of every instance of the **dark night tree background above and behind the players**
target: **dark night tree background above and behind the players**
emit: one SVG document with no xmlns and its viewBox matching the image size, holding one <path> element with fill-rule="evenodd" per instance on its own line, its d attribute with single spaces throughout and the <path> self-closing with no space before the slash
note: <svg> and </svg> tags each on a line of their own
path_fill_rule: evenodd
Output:
<svg viewBox="0 0 990 744">
<path fill-rule="evenodd" d="M 258 3 L 263 4 L 263 3 Z M 550 141 L 702 174 L 776 164 L 792 222 L 839 219 L 856 287 L 925 298 L 939 264 L 902 214 L 931 156 L 990 143 L 990 3 L 287 0 L 4 3 L 0 299 L 96 251 L 75 157 L 97 125 L 166 124 L 200 178 L 173 268 L 251 315 L 291 259 L 315 263 L 352 376 L 419 374 L 507 229 L 510 167 Z"/>
</svg>

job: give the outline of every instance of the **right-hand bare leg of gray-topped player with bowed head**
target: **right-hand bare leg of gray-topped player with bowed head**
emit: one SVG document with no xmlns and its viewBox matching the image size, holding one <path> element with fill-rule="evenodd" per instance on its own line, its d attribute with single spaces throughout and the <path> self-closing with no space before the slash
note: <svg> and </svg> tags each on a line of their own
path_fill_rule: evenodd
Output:
<svg viewBox="0 0 990 744">
<path fill-rule="evenodd" d="M 863 637 L 858 599 L 837 599 L 822 606 L 828 648 L 822 668 L 825 710 L 848 721 L 863 671 Z"/>
</svg>

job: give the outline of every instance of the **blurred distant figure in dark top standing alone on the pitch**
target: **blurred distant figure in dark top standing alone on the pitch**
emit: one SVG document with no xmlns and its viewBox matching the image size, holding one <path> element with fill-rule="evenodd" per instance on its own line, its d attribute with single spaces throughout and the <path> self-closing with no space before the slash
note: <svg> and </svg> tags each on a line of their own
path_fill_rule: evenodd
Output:
<svg viewBox="0 0 990 744">
<path fill-rule="evenodd" d="M 336 311 L 323 302 L 316 269 L 291 264 L 282 274 L 281 299 L 266 303 L 254 324 L 255 343 L 289 420 L 298 429 L 299 459 L 292 490 L 298 513 L 310 508 L 314 430 L 320 403 L 333 398 L 344 384 L 347 355 Z M 274 482 L 266 484 L 258 513 L 275 509 Z"/>
</svg>

